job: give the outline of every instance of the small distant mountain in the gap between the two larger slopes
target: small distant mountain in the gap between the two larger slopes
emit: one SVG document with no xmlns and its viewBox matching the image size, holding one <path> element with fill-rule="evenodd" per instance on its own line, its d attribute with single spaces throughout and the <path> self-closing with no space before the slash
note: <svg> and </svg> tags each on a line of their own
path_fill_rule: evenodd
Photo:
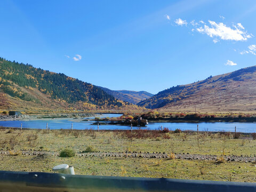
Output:
<svg viewBox="0 0 256 192">
<path fill-rule="evenodd" d="M 153 96 L 153 94 L 148 93 L 146 91 L 127 91 L 127 90 L 113 91 L 105 87 L 100 87 L 100 89 L 102 89 L 103 91 L 107 92 L 110 95 L 113 95 L 113 97 L 115 97 L 118 100 L 126 101 L 133 104 L 137 104 L 141 100 L 148 99 Z"/>
</svg>

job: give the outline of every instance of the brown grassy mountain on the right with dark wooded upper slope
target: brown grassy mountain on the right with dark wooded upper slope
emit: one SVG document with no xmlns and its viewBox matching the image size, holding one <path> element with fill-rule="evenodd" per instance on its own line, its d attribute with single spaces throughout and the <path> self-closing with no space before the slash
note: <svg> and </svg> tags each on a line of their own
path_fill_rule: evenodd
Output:
<svg viewBox="0 0 256 192">
<path fill-rule="evenodd" d="M 255 111 L 256 66 L 171 87 L 138 105 L 169 111 Z"/>
</svg>

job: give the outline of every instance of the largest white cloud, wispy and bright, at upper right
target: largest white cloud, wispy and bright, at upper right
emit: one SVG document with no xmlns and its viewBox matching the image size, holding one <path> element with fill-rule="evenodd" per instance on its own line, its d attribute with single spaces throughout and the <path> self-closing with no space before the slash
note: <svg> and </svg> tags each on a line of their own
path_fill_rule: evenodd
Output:
<svg viewBox="0 0 256 192">
<path fill-rule="evenodd" d="M 209 23 L 210 27 L 204 25 L 204 27 L 197 28 L 197 31 L 202 34 L 206 34 L 212 38 L 220 38 L 222 40 L 246 41 L 247 38 L 251 38 L 251 36 L 248 35 L 246 31 L 238 29 L 237 27 L 235 27 L 235 29 L 232 29 L 230 27 L 227 27 L 222 22 L 216 23 L 210 20 Z M 239 28 L 241 28 L 241 26 L 238 25 Z"/>
</svg>

